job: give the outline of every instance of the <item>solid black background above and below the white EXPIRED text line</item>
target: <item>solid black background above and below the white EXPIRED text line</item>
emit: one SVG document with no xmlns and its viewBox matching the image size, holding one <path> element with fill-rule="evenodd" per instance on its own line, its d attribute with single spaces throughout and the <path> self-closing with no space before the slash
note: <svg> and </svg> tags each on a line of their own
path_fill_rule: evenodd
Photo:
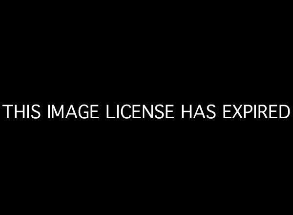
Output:
<svg viewBox="0 0 293 215">
<path fill-rule="evenodd" d="M 1 105 L 175 104 L 176 119 L 2 117 L 7 203 L 181 212 L 286 204 L 292 116 L 223 120 L 221 110 L 292 108 L 283 8 L 71 6 L 14 6 L 3 15 Z M 183 121 L 181 104 L 219 111 L 215 120 Z"/>
</svg>

